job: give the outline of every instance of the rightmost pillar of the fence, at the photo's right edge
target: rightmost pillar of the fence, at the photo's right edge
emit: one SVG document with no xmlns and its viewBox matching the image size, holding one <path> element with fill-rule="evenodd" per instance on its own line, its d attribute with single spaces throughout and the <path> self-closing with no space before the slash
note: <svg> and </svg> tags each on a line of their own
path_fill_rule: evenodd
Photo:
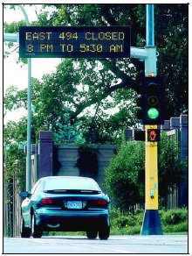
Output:
<svg viewBox="0 0 192 256">
<path fill-rule="evenodd" d="M 180 116 L 180 150 L 181 160 L 188 160 L 188 115 Z M 179 187 L 179 207 L 189 204 L 188 167 L 183 172 L 185 172 L 185 180 Z"/>
</svg>

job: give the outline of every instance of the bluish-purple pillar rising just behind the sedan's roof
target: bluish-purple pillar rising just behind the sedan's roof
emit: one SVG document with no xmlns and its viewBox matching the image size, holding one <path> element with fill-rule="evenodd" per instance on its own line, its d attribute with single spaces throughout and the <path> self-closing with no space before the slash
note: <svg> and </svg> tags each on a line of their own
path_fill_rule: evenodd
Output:
<svg viewBox="0 0 192 256">
<path fill-rule="evenodd" d="M 38 144 L 38 179 L 52 175 L 52 132 L 39 132 Z"/>
</svg>

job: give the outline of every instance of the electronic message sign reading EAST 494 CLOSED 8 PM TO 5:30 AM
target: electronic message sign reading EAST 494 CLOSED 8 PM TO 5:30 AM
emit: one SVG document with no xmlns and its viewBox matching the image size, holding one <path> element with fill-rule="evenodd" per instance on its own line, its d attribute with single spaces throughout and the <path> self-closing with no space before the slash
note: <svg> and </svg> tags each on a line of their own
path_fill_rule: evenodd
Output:
<svg viewBox="0 0 192 256">
<path fill-rule="evenodd" d="M 20 58 L 128 58 L 130 26 L 23 26 Z"/>
</svg>

